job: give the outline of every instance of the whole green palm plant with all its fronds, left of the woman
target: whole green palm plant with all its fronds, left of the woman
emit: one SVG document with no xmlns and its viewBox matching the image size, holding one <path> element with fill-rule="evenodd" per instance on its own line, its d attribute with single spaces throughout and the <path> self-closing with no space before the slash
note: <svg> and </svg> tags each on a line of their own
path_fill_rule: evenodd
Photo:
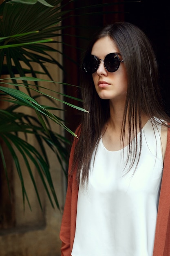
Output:
<svg viewBox="0 0 170 256">
<path fill-rule="evenodd" d="M 18 155 L 15 153 L 16 149 L 22 155 L 26 168 L 29 171 L 40 207 L 42 207 L 40 195 L 29 161 L 35 165 L 38 171 L 51 205 L 54 207 L 54 200 L 57 208 L 59 208 L 59 204 L 53 186 L 49 160 L 44 144 L 55 152 L 65 173 L 66 168 L 64 168 L 64 165 L 67 164 L 67 150 L 65 145 L 69 141 L 51 130 L 49 119 L 76 136 L 74 132 L 65 126 L 64 121 L 54 115 L 51 110 L 61 110 L 56 104 L 57 101 L 61 101 L 73 108 L 86 111 L 66 101 L 62 101 L 57 96 L 51 97 L 48 93 L 44 93 L 41 90 L 51 91 L 51 88 L 46 88 L 45 85 L 42 86 L 42 83 L 57 83 L 53 81 L 50 72 L 46 68 L 46 63 L 52 63 L 63 69 L 60 62 L 52 56 L 52 53 L 58 52 L 62 54 L 62 52 L 44 44 L 46 42 L 49 44 L 61 43 L 60 40 L 51 38 L 60 38 L 62 36 L 61 31 L 64 29 L 61 24 L 63 15 L 71 11 L 69 9 L 68 11 L 62 11 L 62 7 L 62 0 L 48 0 L 48 2 L 45 0 L 4 0 L 0 4 L 0 76 L 7 74 L 10 76 L 10 80 L 6 77 L 0 79 L 0 100 L 10 103 L 7 108 L 0 110 L 0 138 L 7 145 L 13 157 L 20 177 L 23 202 L 25 203 L 26 198 L 29 204 L 29 198 L 24 186 L 22 168 L 18 160 Z M 23 63 L 26 67 L 23 67 Z M 33 63 L 40 65 L 42 72 L 34 70 Z M 31 77 L 26 76 L 26 74 L 31 74 Z M 39 79 L 37 77 L 38 74 L 46 74 L 49 80 Z M 39 82 L 41 82 L 41 86 Z M 62 86 L 63 83 L 58 84 Z M 22 88 L 26 92 L 23 92 L 21 90 Z M 60 92 L 55 93 L 61 94 Z M 64 94 L 62 96 L 73 98 Z M 51 103 L 55 104 L 55 107 L 44 106 L 38 103 L 40 97 L 48 98 Z M 22 106 L 34 110 L 35 116 L 25 115 Z M 21 132 L 24 138 L 19 136 Z M 41 148 L 41 153 L 29 143 L 27 140 L 28 134 L 35 136 Z M 2 146 L 0 146 L 0 156 L 8 179 L 6 159 Z M 29 206 L 31 207 L 30 204 Z"/>
</svg>

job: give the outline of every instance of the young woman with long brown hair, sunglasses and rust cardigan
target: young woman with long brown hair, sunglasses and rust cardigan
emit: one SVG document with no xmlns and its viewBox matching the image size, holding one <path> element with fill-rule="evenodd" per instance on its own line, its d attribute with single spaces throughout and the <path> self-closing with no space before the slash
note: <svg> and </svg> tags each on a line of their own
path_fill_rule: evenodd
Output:
<svg viewBox="0 0 170 256">
<path fill-rule="evenodd" d="M 62 256 L 170 256 L 170 135 L 155 54 L 135 25 L 100 31 L 82 65 Z"/>
</svg>

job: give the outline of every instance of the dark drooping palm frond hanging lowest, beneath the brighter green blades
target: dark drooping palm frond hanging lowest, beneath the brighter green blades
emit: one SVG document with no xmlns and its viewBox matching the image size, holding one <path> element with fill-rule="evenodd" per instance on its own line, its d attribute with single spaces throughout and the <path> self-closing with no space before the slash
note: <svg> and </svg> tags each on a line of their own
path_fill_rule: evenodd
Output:
<svg viewBox="0 0 170 256">
<path fill-rule="evenodd" d="M 33 122 L 37 121 L 38 126 L 33 124 L 31 119 L 33 119 Z M 18 175 L 20 177 L 20 182 L 21 182 L 21 185 L 22 185 L 23 203 L 25 203 L 25 196 L 26 196 L 26 200 L 27 200 L 28 203 L 29 203 L 29 199 L 28 199 L 28 197 L 26 195 L 26 192 L 25 192 L 25 186 L 24 186 L 24 182 L 23 182 L 23 175 L 22 175 L 22 171 L 21 171 L 22 169 L 20 167 L 18 157 L 15 153 L 15 149 L 11 146 L 11 142 L 19 150 L 20 154 L 22 155 L 22 157 L 24 159 L 26 168 L 29 171 L 29 175 L 30 175 L 31 180 L 33 182 L 33 186 L 35 188 L 35 192 L 37 194 L 38 201 L 40 203 L 40 207 L 42 207 L 41 206 L 41 201 L 40 201 L 37 186 L 35 184 L 35 180 L 33 178 L 33 174 L 31 172 L 31 168 L 30 168 L 30 165 L 29 165 L 29 162 L 28 162 L 28 159 L 27 159 L 28 157 L 31 160 L 31 162 L 33 162 L 33 164 L 35 165 L 35 167 L 36 167 L 36 169 L 37 169 L 37 171 L 38 171 L 38 173 L 41 177 L 41 180 L 43 182 L 44 188 L 45 188 L 46 193 L 49 197 L 49 200 L 51 202 L 52 207 L 54 207 L 54 205 L 53 205 L 49 190 L 47 189 L 46 182 L 49 184 L 51 193 L 52 193 L 53 198 L 55 200 L 55 204 L 57 205 L 57 208 L 59 209 L 59 204 L 58 204 L 58 201 L 57 201 L 57 197 L 55 195 L 54 186 L 53 186 L 53 182 L 52 182 L 51 175 L 50 175 L 48 158 L 46 156 L 46 150 L 43 146 L 42 140 L 44 140 L 46 142 L 46 144 L 55 153 L 57 152 L 56 150 L 58 148 L 60 148 L 60 149 L 64 148 L 64 146 L 62 146 L 62 145 L 64 145 L 63 143 L 66 143 L 66 141 L 64 139 L 62 139 L 62 137 L 60 137 L 60 135 L 59 135 L 59 139 L 56 139 L 57 135 L 55 133 L 53 133 L 52 131 L 50 131 L 50 130 L 46 130 L 46 129 L 44 130 L 42 128 L 41 123 L 37 119 L 35 119 L 35 117 L 31 117 L 31 116 L 26 116 L 25 117 L 23 113 L 9 112 L 9 111 L 6 111 L 6 110 L 0 110 L 0 120 L 1 120 L 0 121 L 0 124 L 1 124 L 0 125 L 0 137 L 4 140 L 4 142 L 9 147 L 11 155 L 14 159 L 14 163 L 15 163 L 16 169 L 18 171 Z M 26 122 L 24 120 L 26 120 Z M 27 133 L 34 134 L 35 137 L 37 138 L 38 144 L 41 146 L 42 155 L 44 156 L 44 158 L 28 142 L 26 142 L 23 139 L 18 138 L 17 134 L 13 135 L 13 132 L 17 132 L 17 133 L 18 132 L 23 132 L 25 134 L 27 134 Z M 57 141 L 57 144 L 56 144 L 56 141 Z M 60 143 L 60 141 L 61 141 L 61 143 Z M 66 149 L 65 149 L 65 151 L 66 151 Z M 64 152 L 64 150 L 63 150 L 63 152 Z M 6 170 L 6 164 L 5 164 L 2 148 L 0 148 L 0 154 L 1 154 L 1 157 L 2 157 L 2 160 L 3 160 L 4 170 Z M 60 157 L 60 154 L 57 153 L 57 158 L 59 159 L 59 162 L 62 162 L 62 160 L 64 158 L 66 160 L 66 152 L 65 152 L 65 155 L 64 155 L 64 153 L 62 153 L 61 157 Z M 6 171 L 6 173 L 7 173 L 7 171 Z M 46 177 L 46 182 L 45 182 L 44 177 L 43 177 L 44 175 Z M 30 206 L 30 204 L 29 204 L 29 206 Z"/>
</svg>

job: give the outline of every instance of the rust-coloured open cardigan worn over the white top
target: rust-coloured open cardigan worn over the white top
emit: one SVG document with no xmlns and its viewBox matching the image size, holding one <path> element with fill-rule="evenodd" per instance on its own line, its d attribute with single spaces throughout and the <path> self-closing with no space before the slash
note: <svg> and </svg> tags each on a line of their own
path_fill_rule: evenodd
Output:
<svg viewBox="0 0 170 256">
<path fill-rule="evenodd" d="M 71 256 L 75 236 L 78 186 L 75 172 L 73 177 L 71 177 L 70 171 L 76 140 L 73 142 L 69 160 L 68 189 L 60 230 L 60 239 L 62 240 L 61 256 Z M 167 148 L 163 166 L 153 256 L 170 256 L 170 129 L 168 129 Z"/>
</svg>

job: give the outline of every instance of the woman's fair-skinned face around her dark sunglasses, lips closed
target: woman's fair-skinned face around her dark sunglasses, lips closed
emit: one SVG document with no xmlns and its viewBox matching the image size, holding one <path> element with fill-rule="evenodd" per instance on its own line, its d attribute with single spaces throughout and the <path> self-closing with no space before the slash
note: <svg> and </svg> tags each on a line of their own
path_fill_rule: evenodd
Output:
<svg viewBox="0 0 170 256">
<path fill-rule="evenodd" d="M 97 40 L 91 51 L 91 54 L 103 60 L 109 53 L 117 53 L 122 60 L 117 45 L 109 36 Z M 104 62 L 100 61 L 100 65 L 92 77 L 97 94 L 101 99 L 109 99 L 112 103 L 125 102 L 128 82 L 123 62 L 120 63 L 117 71 L 111 73 L 105 69 Z"/>
</svg>

